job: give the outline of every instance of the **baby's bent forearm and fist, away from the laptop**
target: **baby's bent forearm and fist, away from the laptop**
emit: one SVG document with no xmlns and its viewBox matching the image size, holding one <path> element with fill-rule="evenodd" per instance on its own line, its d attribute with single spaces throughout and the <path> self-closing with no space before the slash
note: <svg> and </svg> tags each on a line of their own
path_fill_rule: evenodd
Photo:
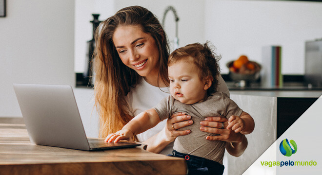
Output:
<svg viewBox="0 0 322 175">
<path fill-rule="evenodd" d="M 240 132 L 241 134 L 250 134 L 253 132 L 255 123 L 253 118 L 247 113 L 242 112 L 241 116 L 230 116 L 228 119 L 227 129 Z"/>
</svg>

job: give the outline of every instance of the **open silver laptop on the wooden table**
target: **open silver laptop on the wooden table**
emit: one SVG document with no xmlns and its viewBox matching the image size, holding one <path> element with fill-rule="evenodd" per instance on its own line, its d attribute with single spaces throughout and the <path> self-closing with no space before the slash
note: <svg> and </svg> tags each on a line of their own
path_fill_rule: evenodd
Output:
<svg viewBox="0 0 322 175">
<path fill-rule="evenodd" d="M 86 138 L 71 86 L 14 84 L 14 89 L 33 143 L 87 151 L 141 145 Z"/>
</svg>

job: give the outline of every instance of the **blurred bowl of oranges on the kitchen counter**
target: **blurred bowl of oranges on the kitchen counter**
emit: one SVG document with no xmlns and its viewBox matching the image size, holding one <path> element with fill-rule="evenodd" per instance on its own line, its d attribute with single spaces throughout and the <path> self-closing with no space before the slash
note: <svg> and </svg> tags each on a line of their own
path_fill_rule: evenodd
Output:
<svg viewBox="0 0 322 175">
<path fill-rule="evenodd" d="M 255 61 L 249 61 L 246 55 L 227 63 L 229 76 L 233 81 L 256 81 L 260 77 L 262 66 Z"/>
</svg>

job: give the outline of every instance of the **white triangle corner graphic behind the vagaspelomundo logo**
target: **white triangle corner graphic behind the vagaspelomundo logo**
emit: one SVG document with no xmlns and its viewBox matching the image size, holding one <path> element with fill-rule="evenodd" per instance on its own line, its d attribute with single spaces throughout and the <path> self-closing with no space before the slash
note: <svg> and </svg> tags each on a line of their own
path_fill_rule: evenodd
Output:
<svg viewBox="0 0 322 175">
<path fill-rule="evenodd" d="M 321 175 L 321 138 L 322 96 L 243 175 Z M 297 144 L 297 152 L 290 157 L 283 156 L 280 152 L 280 143 L 284 139 L 294 140 Z"/>
</svg>

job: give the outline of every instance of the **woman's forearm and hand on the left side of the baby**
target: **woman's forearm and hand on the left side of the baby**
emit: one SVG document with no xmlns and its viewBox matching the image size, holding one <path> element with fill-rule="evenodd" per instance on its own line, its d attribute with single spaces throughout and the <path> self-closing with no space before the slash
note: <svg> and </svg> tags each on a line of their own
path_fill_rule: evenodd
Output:
<svg viewBox="0 0 322 175">
<path fill-rule="evenodd" d="M 189 134 L 190 130 L 178 131 L 177 129 L 191 125 L 193 123 L 191 116 L 185 113 L 173 114 L 166 122 L 166 126 L 156 135 L 145 140 L 143 143 L 147 144 L 147 151 L 153 153 L 160 153 L 168 144 L 173 142 L 178 136 Z M 172 128 L 172 126 L 174 128 Z"/>
</svg>

